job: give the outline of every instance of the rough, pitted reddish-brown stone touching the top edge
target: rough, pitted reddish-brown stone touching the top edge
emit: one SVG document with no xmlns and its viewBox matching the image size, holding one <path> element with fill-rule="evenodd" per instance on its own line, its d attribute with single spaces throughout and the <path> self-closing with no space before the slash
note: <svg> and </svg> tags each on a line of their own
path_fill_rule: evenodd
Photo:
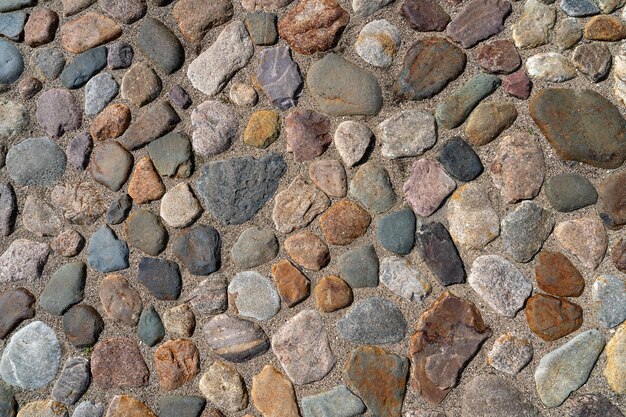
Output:
<svg viewBox="0 0 626 417">
<path fill-rule="evenodd" d="M 335 46 L 349 21 L 335 0 L 301 0 L 278 21 L 278 33 L 295 51 L 311 55 Z"/>
</svg>

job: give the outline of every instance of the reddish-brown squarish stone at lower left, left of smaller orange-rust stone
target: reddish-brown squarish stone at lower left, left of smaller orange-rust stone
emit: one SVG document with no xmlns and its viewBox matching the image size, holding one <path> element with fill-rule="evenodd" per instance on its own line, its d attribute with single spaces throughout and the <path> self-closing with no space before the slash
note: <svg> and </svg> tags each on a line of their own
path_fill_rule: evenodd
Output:
<svg viewBox="0 0 626 417">
<path fill-rule="evenodd" d="M 115 338 L 96 344 L 91 375 L 101 389 L 139 388 L 148 385 L 150 371 L 134 340 Z"/>
</svg>

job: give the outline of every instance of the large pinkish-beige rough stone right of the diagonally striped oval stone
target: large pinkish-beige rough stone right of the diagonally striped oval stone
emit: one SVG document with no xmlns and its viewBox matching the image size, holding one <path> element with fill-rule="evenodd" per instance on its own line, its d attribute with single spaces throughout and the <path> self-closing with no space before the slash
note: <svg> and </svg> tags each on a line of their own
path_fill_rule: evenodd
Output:
<svg viewBox="0 0 626 417">
<path fill-rule="evenodd" d="M 296 385 L 319 381 L 336 362 L 321 317 L 314 310 L 301 311 L 276 330 L 272 350 Z"/>
</svg>

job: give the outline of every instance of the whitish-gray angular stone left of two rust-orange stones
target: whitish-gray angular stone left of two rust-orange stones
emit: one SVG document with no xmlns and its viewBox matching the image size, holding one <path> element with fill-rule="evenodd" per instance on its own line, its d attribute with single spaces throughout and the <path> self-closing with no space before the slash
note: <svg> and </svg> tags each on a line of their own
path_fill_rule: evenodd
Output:
<svg viewBox="0 0 626 417">
<path fill-rule="evenodd" d="M 474 260 L 467 282 L 498 314 L 515 317 L 532 292 L 532 283 L 515 265 L 498 255 Z"/>
</svg>

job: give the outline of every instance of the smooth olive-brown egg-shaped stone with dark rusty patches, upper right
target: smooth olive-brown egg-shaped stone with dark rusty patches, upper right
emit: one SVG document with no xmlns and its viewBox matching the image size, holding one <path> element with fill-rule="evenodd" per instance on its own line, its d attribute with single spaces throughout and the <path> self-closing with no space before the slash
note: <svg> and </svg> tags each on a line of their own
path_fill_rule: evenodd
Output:
<svg viewBox="0 0 626 417">
<path fill-rule="evenodd" d="M 404 57 L 396 92 L 405 100 L 429 99 L 461 75 L 466 60 L 465 53 L 444 38 L 418 40 Z"/>
</svg>

